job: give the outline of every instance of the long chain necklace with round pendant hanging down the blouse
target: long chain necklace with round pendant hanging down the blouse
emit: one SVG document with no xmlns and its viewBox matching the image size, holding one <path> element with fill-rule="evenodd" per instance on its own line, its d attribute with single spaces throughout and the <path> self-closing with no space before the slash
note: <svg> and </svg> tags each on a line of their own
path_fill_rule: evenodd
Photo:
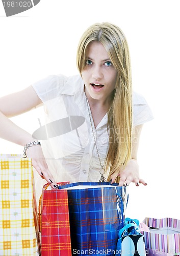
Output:
<svg viewBox="0 0 180 256">
<path fill-rule="evenodd" d="M 86 93 L 85 93 L 85 96 L 86 96 Z M 87 104 L 87 108 L 88 108 L 89 120 L 90 120 L 90 124 L 91 124 L 91 130 L 92 130 L 92 134 L 93 134 L 93 138 L 94 138 L 94 143 L 95 143 L 96 151 L 97 151 L 97 156 L 98 156 L 99 163 L 100 163 L 100 167 L 101 167 L 100 170 L 99 170 L 99 173 L 100 173 L 100 180 L 99 180 L 99 182 L 105 182 L 105 181 L 106 181 L 106 178 L 104 177 L 104 174 L 106 173 L 106 170 L 105 170 L 104 166 L 105 166 L 106 157 L 107 157 L 107 153 L 108 153 L 108 146 L 109 146 L 109 143 L 108 143 L 108 146 L 107 146 L 107 149 L 106 149 L 105 161 L 104 161 L 104 164 L 102 165 L 102 164 L 101 164 L 101 161 L 100 161 L 100 157 L 99 157 L 99 152 L 98 152 L 98 149 L 97 149 L 97 144 L 96 144 L 94 129 L 93 129 L 93 126 L 92 126 L 92 120 L 91 120 L 91 114 L 90 114 L 90 109 L 89 109 L 89 105 L 88 105 L 87 96 L 86 96 L 86 104 Z"/>
</svg>

